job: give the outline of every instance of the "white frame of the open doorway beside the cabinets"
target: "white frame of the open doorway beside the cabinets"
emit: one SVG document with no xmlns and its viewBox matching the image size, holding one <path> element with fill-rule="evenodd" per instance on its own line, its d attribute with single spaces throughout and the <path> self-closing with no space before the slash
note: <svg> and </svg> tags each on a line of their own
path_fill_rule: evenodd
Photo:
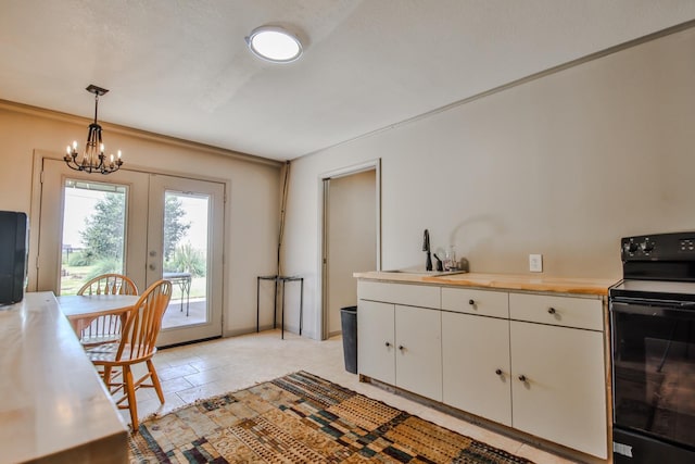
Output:
<svg viewBox="0 0 695 464">
<path fill-rule="evenodd" d="M 376 235 L 377 235 L 377 269 L 381 269 L 381 159 L 366 161 L 364 163 L 341 167 L 323 173 L 318 176 L 318 267 L 317 267 L 317 300 L 320 301 L 318 312 L 318 327 L 320 328 L 320 340 L 328 338 L 328 277 L 327 277 L 327 254 L 328 254 L 328 208 L 330 200 L 330 179 L 346 177 L 353 174 L 375 171 L 375 202 L 376 202 Z"/>
</svg>

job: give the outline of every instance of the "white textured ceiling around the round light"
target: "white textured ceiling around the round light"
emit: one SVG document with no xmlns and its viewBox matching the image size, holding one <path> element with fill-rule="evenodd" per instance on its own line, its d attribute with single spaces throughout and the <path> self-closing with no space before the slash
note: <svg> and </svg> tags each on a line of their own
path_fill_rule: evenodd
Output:
<svg viewBox="0 0 695 464">
<path fill-rule="evenodd" d="M 100 121 L 286 160 L 693 18 L 693 0 L 0 0 L 0 99 L 92 117 L 94 84 Z M 268 24 L 301 60 L 249 52 Z"/>
</svg>

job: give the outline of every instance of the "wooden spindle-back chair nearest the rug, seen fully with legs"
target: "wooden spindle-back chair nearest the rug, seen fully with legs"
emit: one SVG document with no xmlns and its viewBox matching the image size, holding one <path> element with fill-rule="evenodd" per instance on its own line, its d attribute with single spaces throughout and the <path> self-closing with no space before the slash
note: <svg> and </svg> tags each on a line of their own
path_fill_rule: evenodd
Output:
<svg viewBox="0 0 695 464">
<path fill-rule="evenodd" d="M 156 337 L 162 328 L 162 316 L 172 298 L 172 283 L 157 280 L 140 297 L 128 312 L 121 341 L 100 344 L 87 350 L 109 391 L 115 397 L 119 409 L 130 410 L 132 432 L 138 431 L 138 405 L 136 390 L 154 388 L 160 402 L 164 404 L 164 393 L 154 369 L 152 356 L 156 353 Z M 148 372 L 134 380 L 132 366 L 146 363 Z M 151 384 L 144 384 L 150 379 Z"/>
</svg>

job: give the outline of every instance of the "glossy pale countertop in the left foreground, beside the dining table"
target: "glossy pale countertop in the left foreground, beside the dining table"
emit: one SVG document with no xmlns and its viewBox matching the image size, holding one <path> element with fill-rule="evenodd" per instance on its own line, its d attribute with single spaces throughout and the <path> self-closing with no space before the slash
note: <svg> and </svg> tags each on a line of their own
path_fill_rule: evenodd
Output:
<svg viewBox="0 0 695 464">
<path fill-rule="evenodd" d="M 128 434 L 52 292 L 0 306 L 0 463 L 127 463 Z"/>
</svg>

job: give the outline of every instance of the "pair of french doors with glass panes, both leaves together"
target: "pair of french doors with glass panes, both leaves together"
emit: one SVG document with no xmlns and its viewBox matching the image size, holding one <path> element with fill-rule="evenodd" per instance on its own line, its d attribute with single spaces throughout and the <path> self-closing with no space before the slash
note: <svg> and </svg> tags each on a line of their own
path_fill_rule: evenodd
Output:
<svg viewBox="0 0 695 464">
<path fill-rule="evenodd" d="M 157 346 L 222 335 L 224 184 L 42 163 L 38 290 L 74 294 L 112 272 L 140 291 L 167 278 L 174 292 Z"/>
</svg>

